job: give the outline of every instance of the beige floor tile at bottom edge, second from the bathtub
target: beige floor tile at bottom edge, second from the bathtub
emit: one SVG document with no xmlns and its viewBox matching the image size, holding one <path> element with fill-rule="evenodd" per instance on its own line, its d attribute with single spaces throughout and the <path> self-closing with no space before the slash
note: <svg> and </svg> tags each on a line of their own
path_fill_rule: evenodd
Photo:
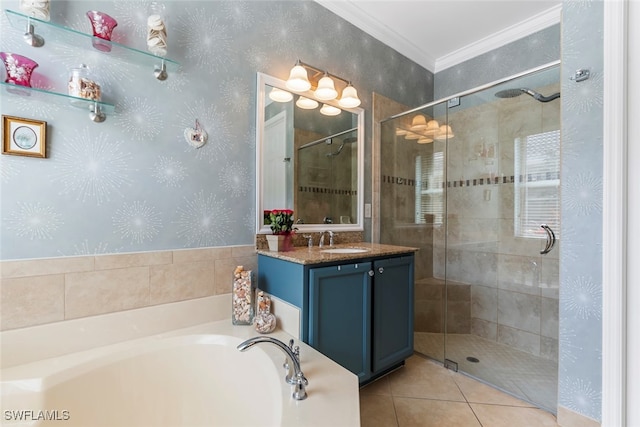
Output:
<svg viewBox="0 0 640 427">
<path fill-rule="evenodd" d="M 399 427 L 481 427 L 467 403 L 402 397 L 394 403 Z"/>
</svg>

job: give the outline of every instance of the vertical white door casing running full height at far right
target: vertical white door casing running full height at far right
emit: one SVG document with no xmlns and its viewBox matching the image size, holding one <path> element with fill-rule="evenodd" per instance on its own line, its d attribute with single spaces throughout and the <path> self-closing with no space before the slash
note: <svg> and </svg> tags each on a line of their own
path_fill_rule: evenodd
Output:
<svg viewBox="0 0 640 427">
<path fill-rule="evenodd" d="M 604 2 L 602 426 L 626 425 L 627 4 Z"/>
</svg>

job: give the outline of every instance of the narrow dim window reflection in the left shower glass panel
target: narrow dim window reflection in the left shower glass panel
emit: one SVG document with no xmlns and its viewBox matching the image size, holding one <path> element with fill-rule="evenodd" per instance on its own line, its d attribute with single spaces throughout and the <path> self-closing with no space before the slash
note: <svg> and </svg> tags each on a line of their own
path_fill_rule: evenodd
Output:
<svg viewBox="0 0 640 427">
<path fill-rule="evenodd" d="M 416 224 L 442 224 L 444 153 L 416 157 Z"/>
</svg>

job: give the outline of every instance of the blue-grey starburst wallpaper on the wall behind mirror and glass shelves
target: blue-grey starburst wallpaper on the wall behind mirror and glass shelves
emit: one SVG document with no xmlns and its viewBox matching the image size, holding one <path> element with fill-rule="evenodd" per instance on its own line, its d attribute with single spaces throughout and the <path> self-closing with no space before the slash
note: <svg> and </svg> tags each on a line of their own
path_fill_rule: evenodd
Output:
<svg viewBox="0 0 640 427">
<path fill-rule="evenodd" d="M 118 21 L 114 41 L 144 50 L 150 3 L 56 0 L 51 21 L 89 33 L 85 13 L 99 10 Z M 0 259 L 252 244 L 258 71 L 286 79 L 300 58 L 351 79 L 367 124 L 373 91 L 410 106 L 433 97 L 431 72 L 315 2 L 165 5 L 168 57 L 181 68 L 164 82 L 90 43 L 30 47 L 2 13 L 0 50 L 39 63 L 35 87 L 66 92 L 70 69 L 85 63 L 116 112 L 96 124 L 64 103 L 2 94 L 2 114 L 48 122 L 48 158 L 0 156 Z M 196 120 L 209 135 L 200 149 L 183 137 Z M 370 160 L 365 176 L 370 201 Z"/>
</svg>

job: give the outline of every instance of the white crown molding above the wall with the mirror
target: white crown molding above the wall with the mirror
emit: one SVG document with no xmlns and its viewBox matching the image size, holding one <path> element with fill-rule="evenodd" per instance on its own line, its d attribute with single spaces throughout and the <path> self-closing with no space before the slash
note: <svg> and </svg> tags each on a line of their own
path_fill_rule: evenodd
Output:
<svg viewBox="0 0 640 427">
<path fill-rule="evenodd" d="M 344 0 L 315 0 L 316 3 L 360 28 L 387 46 L 395 49 L 418 65 L 433 71 L 436 58 L 413 41 L 402 37 L 395 30 L 375 19 L 357 2 Z"/>
</svg>

